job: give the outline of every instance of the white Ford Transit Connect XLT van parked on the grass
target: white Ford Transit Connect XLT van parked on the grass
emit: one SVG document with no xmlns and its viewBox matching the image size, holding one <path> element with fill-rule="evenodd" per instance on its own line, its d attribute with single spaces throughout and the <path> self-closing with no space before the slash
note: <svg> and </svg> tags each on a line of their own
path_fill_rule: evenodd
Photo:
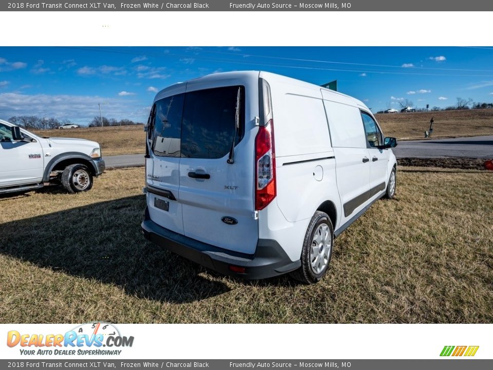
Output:
<svg viewBox="0 0 493 370">
<path fill-rule="evenodd" d="M 223 274 L 325 274 L 334 237 L 395 193 L 396 160 L 370 110 L 268 72 L 161 90 L 147 130 L 144 235 Z"/>
</svg>

